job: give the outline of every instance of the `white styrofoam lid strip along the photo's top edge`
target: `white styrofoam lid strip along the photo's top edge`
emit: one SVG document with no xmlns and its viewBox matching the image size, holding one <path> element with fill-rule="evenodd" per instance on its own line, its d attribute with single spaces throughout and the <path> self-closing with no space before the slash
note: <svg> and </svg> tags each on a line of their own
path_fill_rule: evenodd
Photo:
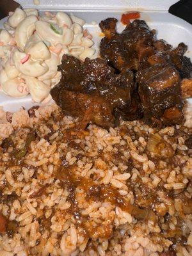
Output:
<svg viewBox="0 0 192 256">
<path fill-rule="evenodd" d="M 177 0 L 38 0 L 36 8 L 41 10 L 89 10 L 113 12 L 126 10 L 167 11 Z M 34 0 L 17 0 L 23 8 L 34 8 Z"/>
</svg>

